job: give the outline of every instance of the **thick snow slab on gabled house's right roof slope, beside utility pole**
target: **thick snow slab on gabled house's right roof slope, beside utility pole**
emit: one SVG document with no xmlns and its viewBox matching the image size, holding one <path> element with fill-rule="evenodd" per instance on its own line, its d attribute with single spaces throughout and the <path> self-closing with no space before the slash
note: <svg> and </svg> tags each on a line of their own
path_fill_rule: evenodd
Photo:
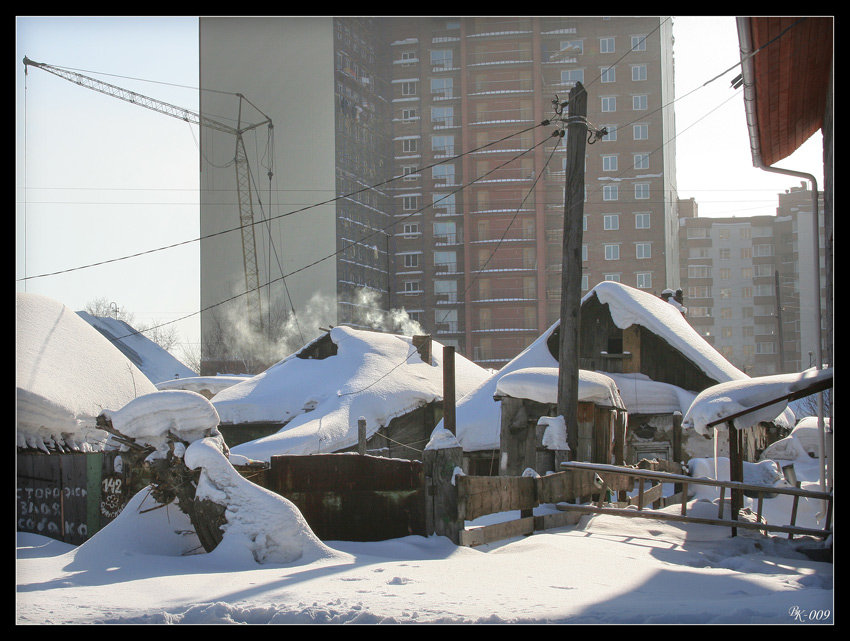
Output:
<svg viewBox="0 0 850 641">
<path fill-rule="evenodd" d="M 614 281 L 596 285 L 582 298 L 582 304 L 593 295 L 600 303 L 608 304 L 617 327 L 645 327 L 691 360 L 709 378 L 719 382 L 749 378 L 700 336 L 676 307 L 660 298 Z"/>
</svg>

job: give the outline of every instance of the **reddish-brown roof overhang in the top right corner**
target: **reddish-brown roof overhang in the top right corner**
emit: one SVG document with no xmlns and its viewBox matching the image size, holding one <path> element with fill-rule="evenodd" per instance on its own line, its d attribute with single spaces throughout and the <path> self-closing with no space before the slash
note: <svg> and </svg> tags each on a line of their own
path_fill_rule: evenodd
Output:
<svg viewBox="0 0 850 641">
<path fill-rule="evenodd" d="M 770 166 L 823 126 L 833 19 L 768 16 L 748 22 L 753 49 L 765 47 L 753 58 L 753 74 L 759 149 L 762 161 Z"/>
</svg>

